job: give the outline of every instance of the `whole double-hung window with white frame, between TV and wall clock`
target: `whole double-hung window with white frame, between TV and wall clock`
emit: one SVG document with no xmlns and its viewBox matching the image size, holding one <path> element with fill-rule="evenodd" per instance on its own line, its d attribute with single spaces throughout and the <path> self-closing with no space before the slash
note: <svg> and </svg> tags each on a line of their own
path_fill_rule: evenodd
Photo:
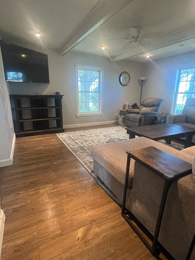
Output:
<svg viewBox="0 0 195 260">
<path fill-rule="evenodd" d="M 102 89 L 104 68 L 75 64 L 76 116 L 103 115 Z"/>
</svg>

